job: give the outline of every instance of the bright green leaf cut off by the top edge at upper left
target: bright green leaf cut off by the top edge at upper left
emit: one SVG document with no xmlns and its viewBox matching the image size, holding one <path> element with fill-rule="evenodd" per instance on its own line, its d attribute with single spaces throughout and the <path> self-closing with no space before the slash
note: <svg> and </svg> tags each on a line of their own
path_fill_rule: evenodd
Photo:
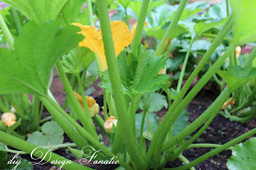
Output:
<svg viewBox="0 0 256 170">
<path fill-rule="evenodd" d="M 55 20 L 68 0 L 2 0 L 37 23 Z"/>
</svg>

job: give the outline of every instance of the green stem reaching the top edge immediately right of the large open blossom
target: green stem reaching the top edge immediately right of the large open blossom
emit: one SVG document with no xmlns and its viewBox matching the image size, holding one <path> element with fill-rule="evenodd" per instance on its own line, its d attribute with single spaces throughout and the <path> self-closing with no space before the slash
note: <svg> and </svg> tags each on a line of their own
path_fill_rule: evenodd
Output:
<svg viewBox="0 0 256 170">
<path fill-rule="evenodd" d="M 132 43 L 132 53 L 134 54 L 136 52 L 137 46 L 141 44 L 143 31 L 144 31 L 144 21 L 145 16 L 147 14 L 147 9 L 149 5 L 150 0 L 144 0 L 143 5 L 141 7 L 141 12 L 135 32 L 135 36 Z"/>
</svg>

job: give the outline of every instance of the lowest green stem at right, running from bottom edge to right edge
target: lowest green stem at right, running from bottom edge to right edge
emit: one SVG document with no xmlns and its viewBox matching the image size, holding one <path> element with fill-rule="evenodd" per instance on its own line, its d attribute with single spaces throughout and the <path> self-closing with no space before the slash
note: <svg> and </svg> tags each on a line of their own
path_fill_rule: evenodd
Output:
<svg viewBox="0 0 256 170">
<path fill-rule="evenodd" d="M 246 133 L 244 135 L 240 135 L 239 137 L 229 141 L 228 143 L 226 143 L 224 145 L 221 145 L 221 146 L 217 147 L 216 149 L 208 152 L 207 154 L 198 157 L 196 160 L 190 162 L 187 165 L 182 165 L 180 167 L 169 168 L 169 169 L 176 169 L 176 170 L 183 170 L 184 169 L 185 170 L 185 169 L 188 169 L 188 168 L 190 168 L 190 167 L 192 167 L 194 165 L 198 165 L 201 162 L 203 162 L 203 161 L 207 160 L 208 158 L 210 158 L 211 156 L 219 154 L 220 152 L 226 150 L 230 146 L 236 145 L 236 144 L 240 143 L 241 141 L 247 139 L 248 137 L 250 137 L 251 135 L 254 135 L 254 134 L 256 134 L 256 128 L 252 129 L 251 131 L 249 131 L 248 133 Z"/>
</svg>

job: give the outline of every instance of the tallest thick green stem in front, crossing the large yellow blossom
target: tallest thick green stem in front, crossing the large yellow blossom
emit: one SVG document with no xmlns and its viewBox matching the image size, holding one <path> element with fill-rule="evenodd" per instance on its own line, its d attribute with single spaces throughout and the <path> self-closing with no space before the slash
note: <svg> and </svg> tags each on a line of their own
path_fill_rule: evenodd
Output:
<svg viewBox="0 0 256 170">
<path fill-rule="evenodd" d="M 129 115 L 125 105 L 121 78 L 113 47 L 108 5 L 106 0 L 96 0 L 96 4 L 98 5 L 102 39 L 112 84 L 113 98 L 118 114 L 118 123 L 121 124 L 123 132 L 126 132 L 126 134 L 123 135 L 123 142 L 129 155 L 131 156 L 132 161 L 138 165 L 138 167 L 145 169 L 147 165 L 145 164 L 142 156 L 139 154 L 138 148 L 133 141 L 132 128 L 130 128 L 130 122 L 127 121 L 129 119 Z"/>
</svg>

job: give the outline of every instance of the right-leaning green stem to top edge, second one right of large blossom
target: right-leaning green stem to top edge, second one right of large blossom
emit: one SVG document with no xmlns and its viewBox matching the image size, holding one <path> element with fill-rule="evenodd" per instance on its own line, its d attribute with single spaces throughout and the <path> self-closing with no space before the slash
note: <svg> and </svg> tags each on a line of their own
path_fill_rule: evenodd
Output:
<svg viewBox="0 0 256 170">
<path fill-rule="evenodd" d="M 169 37 L 172 37 L 172 35 L 175 33 L 177 22 L 182 15 L 182 12 L 187 5 L 187 0 L 181 0 L 180 4 L 178 5 L 178 8 L 176 10 L 176 14 L 174 15 L 174 18 L 172 19 L 171 24 L 168 26 L 164 37 L 162 38 L 162 41 L 160 45 L 158 45 L 157 49 L 155 50 L 155 56 L 162 55 L 165 51 L 165 42 Z"/>
</svg>

